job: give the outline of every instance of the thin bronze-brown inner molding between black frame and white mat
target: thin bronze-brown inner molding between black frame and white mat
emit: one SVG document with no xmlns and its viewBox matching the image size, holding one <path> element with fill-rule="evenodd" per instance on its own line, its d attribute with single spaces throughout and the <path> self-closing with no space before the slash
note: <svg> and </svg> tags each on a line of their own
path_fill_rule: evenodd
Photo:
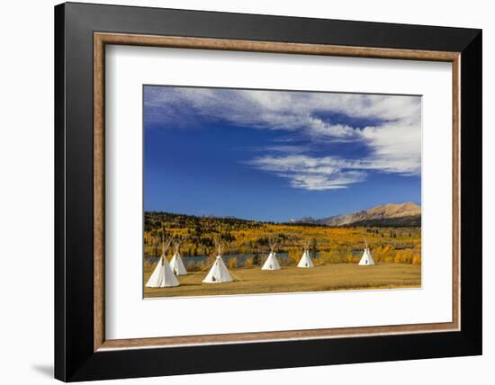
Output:
<svg viewBox="0 0 495 385">
<path fill-rule="evenodd" d="M 444 61 L 452 63 L 452 130 L 453 130 L 453 288 L 452 322 L 380 327 L 341 327 L 311 330 L 236 333 L 205 336 L 169 336 L 132 339 L 106 339 L 104 330 L 104 181 L 105 181 L 105 45 L 132 45 L 181 49 L 216 49 L 299 55 L 323 55 L 354 58 L 396 58 Z M 280 340 L 322 339 L 332 337 L 397 335 L 460 330 L 460 66 L 459 52 L 412 49 L 377 49 L 323 44 L 302 44 L 254 40 L 225 40 L 176 36 L 152 36 L 94 32 L 94 352 L 99 350 L 174 347 L 267 342 Z"/>
</svg>

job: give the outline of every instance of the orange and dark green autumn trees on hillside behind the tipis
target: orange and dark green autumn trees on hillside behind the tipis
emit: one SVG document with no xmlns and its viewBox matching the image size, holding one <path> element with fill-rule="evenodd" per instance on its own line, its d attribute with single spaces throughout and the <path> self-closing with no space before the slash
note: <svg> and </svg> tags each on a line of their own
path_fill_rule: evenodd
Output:
<svg viewBox="0 0 495 385">
<path fill-rule="evenodd" d="M 145 259 L 161 253 L 160 239 L 181 237 L 183 256 L 215 256 L 213 238 L 220 236 L 226 255 L 250 255 L 229 258 L 229 268 L 261 264 L 269 251 L 269 239 L 277 239 L 276 252 L 287 255 L 282 265 L 295 265 L 302 246 L 310 241 L 315 264 L 357 263 L 365 241 L 375 263 L 421 264 L 420 228 L 331 228 L 328 226 L 277 224 L 235 218 L 194 217 L 163 212 L 145 213 Z M 188 270 L 201 270 L 204 261 Z"/>
</svg>

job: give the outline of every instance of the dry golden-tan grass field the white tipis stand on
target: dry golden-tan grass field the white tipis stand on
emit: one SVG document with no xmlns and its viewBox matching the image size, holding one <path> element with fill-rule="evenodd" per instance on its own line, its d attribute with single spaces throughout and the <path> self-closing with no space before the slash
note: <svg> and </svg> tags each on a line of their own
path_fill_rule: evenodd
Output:
<svg viewBox="0 0 495 385">
<path fill-rule="evenodd" d="M 153 266 L 145 267 L 148 281 Z M 326 264 L 310 269 L 295 266 L 280 271 L 262 271 L 260 267 L 231 269 L 240 281 L 202 283 L 208 273 L 190 273 L 177 277 L 180 286 L 174 288 L 145 288 L 145 298 L 183 297 L 201 295 L 255 294 L 294 291 L 338 291 L 351 289 L 419 288 L 421 266 L 414 264 Z"/>
</svg>

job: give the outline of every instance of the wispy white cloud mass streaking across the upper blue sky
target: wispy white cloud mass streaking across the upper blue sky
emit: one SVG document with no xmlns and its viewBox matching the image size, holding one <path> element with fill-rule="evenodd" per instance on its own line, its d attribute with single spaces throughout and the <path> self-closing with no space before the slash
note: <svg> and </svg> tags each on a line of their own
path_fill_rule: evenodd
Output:
<svg viewBox="0 0 495 385">
<path fill-rule="evenodd" d="M 333 94 L 151 87 L 145 94 L 146 119 L 180 128 L 201 120 L 227 121 L 234 126 L 297 133 L 315 146 L 358 142 L 367 151 L 359 159 L 304 156 L 302 146 L 267 146 L 267 156 L 249 166 L 282 176 L 294 188 L 332 190 L 363 182 L 370 170 L 419 175 L 421 99 L 419 96 Z M 332 121 L 373 121 L 365 127 Z M 274 156 L 276 154 L 276 156 Z"/>
</svg>

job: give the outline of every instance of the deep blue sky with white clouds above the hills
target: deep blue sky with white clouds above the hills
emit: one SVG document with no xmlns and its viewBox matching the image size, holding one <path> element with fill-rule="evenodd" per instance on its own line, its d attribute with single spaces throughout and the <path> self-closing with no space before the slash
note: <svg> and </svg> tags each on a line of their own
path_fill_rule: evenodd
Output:
<svg viewBox="0 0 495 385">
<path fill-rule="evenodd" d="M 144 206 L 286 221 L 420 204 L 421 98 L 144 86 Z"/>
</svg>

